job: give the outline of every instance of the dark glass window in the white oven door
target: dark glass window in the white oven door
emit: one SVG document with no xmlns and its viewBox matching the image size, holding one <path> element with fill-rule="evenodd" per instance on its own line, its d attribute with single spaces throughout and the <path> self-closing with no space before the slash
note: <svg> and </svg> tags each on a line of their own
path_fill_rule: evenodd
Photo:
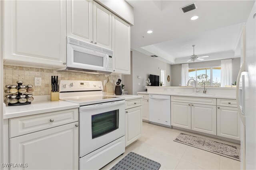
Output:
<svg viewBox="0 0 256 170">
<path fill-rule="evenodd" d="M 92 115 L 92 139 L 118 129 L 118 110 Z"/>
</svg>

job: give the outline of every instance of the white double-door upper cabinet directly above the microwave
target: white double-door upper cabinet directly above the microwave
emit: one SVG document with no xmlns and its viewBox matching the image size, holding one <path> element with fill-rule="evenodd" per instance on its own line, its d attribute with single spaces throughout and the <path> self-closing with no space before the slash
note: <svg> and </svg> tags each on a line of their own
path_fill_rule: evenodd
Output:
<svg viewBox="0 0 256 170">
<path fill-rule="evenodd" d="M 68 0 L 67 36 L 112 50 L 112 13 L 92 0 Z"/>
</svg>

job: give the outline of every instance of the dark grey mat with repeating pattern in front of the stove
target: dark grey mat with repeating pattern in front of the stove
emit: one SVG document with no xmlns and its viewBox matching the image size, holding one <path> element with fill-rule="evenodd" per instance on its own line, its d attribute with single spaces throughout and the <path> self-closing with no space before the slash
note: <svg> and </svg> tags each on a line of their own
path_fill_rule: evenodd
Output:
<svg viewBox="0 0 256 170">
<path fill-rule="evenodd" d="M 110 170 L 159 170 L 161 164 L 134 152 L 128 153 Z"/>
</svg>

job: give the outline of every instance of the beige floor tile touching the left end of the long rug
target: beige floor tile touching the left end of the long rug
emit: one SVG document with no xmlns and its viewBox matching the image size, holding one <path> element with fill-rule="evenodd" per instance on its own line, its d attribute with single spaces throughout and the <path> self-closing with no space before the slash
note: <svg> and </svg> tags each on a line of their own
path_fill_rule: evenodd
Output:
<svg viewBox="0 0 256 170">
<path fill-rule="evenodd" d="M 188 148 L 188 145 L 184 145 L 182 143 L 178 143 L 178 142 L 174 142 L 174 141 L 169 141 L 166 139 L 161 141 L 155 147 L 155 149 L 158 149 L 167 154 L 176 156 L 177 158 L 181 158 L 187 148 Z"/>
</svg>

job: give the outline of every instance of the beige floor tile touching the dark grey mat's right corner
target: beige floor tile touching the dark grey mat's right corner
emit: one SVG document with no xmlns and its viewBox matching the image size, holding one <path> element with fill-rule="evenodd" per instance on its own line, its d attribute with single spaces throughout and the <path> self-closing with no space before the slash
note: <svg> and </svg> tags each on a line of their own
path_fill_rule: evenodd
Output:
<svg viewBox="0 0 256 170">
<path fill-rule="evenodd" d="M 160 170 L 174 170 L 180 160 L 157 149 L 152 149 L 145 157 L 160 163 Z"/>
</svg>

